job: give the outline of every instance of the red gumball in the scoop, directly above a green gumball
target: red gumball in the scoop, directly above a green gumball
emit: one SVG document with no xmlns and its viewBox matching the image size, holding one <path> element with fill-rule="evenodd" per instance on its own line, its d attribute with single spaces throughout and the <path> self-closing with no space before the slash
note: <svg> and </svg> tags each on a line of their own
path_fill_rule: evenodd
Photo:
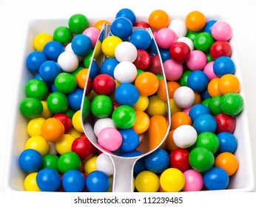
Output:
<svg viewBox="0 0 256 207">
<path fill-rule="evenodd" d="M 92 88 L 98 95 L 111 95 L 115 91 L 115 79 L 107 74 L 97 75 L 92 81 Z"/>
</svg>

